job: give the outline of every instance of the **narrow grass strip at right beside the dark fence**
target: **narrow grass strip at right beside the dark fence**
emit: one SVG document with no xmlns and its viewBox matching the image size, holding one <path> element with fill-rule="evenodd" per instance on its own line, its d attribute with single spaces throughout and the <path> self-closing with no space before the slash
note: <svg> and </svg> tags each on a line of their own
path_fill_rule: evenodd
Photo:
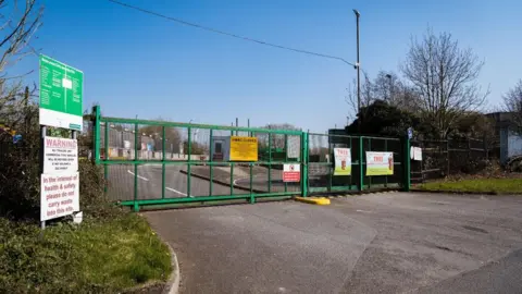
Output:
<svg viewBox="0 0 522 294">
<path fill-rule="evenodd" d="M 452 182 L 433 182 L 419 186 L 426 191 L 522 194 L 522 179 L 476 179 Z"/>
</svg>

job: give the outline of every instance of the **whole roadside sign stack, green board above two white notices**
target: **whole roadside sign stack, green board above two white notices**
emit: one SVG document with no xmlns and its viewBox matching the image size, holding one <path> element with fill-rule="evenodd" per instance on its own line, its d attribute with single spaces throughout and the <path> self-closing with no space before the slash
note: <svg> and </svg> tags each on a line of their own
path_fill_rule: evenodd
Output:
<svg viewBox="0 0 522 294">
<path fill-rule="evenodd" d="M 41 182 L 40 221 L 79 211 L 78 145 L 84 73 L 40 54 Z M 48 137 L 47 126 L 72 130 L 72 138 Z"/>
</svg>

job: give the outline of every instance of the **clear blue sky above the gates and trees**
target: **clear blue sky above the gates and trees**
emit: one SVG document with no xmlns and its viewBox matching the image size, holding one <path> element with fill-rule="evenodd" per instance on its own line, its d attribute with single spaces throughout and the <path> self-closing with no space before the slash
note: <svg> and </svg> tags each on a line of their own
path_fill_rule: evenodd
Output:
<svg viewBox="0 0 522 294">
<path fill-rule="evenodd" d="M 449 32 L 484 59 L 489 107 L 522 77 L 521 1 L 122 0 L 201 25 L 356 60 L 370 75 L 397 71 L 411 36 Z M 346 123 L 356 71 L 335 60 L 179 25 L 105 0 L 45 1 L 34 47 L 85 73 L 84 106 L 105 115 L 256 126 L 288 122 L 324 132 Z M 21 66 L 37 69 L 30 57 Z M 18 69 L 20 70 L 20 69 Z M 37 75 L 29 76 L 37 81 Z"/>
</svg>

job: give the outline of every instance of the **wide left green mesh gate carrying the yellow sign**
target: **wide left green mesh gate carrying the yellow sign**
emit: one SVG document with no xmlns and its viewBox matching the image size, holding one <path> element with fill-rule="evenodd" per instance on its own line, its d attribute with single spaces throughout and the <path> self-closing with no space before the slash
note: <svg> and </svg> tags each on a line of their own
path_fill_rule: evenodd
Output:
<svg viewBox="0 0 522 294">
<path fill-rule="evenodd" d="M 103 166 L 110 200 L 138 210 L 303 193 L 301 182 L 283 182 L 284 164 L 303 163 L 300 131 L 101 118 L 97 111 L 95 160 Z M 237 136 L 247 149 L 234 145 Z M 257 158 L 231 160 L 233 150 Z"/>
</svg>

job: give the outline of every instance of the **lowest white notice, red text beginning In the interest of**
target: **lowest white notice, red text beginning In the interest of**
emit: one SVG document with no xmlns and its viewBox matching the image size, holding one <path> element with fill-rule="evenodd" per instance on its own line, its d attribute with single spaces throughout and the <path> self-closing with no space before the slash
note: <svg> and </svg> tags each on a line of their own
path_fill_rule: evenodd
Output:
<svg viewBox="0 0 522 294">
<path fill-rule="evenodd" d="M 79 173 L 42 174 L 40 221 L 79 211 Z"/>
</svg>

